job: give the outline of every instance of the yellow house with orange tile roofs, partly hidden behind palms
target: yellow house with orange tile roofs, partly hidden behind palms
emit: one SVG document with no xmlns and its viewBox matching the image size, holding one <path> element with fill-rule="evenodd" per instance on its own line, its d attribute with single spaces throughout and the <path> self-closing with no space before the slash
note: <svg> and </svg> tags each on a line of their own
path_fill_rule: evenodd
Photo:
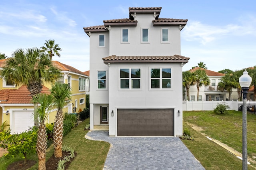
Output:
<svg viewBox="0 0 256 170">
<path fill-rule="evenodd" d="M 4 67 L 6 59 L 0 60 L 0 69 Z M 79 113 L 85 108 L 86 79 L 82 71 L 69 65 L 52 61 L 63 73 L 60 82 L 72 87 L 72 99 L 63 109 L 63 113 Z M 45 84 L 42 93 L 50 93 L 51 85 Z M 0 125 L 6 121 L 10 125 L 12 133 L 19 133 L 34 125 L 34 105 L 31 103 L 30 92 L 25 85 L 14 87 L 0 77 Z M 52 109 L 46 123 L 53 123 L 56 109 Z"/>
</svg>

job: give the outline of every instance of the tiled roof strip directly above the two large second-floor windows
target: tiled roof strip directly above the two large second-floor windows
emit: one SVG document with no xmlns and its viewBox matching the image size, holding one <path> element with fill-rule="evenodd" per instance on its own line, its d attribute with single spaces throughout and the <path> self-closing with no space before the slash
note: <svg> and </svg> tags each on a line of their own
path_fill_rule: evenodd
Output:
<svg viewBox="0 0 256 170">
<path fill-rule="evenodd" d="M 181 55 L 170 56 L 116 56 L 102 58 L 104 63 L 187 63 L 189 58 Z"/>
</svg>

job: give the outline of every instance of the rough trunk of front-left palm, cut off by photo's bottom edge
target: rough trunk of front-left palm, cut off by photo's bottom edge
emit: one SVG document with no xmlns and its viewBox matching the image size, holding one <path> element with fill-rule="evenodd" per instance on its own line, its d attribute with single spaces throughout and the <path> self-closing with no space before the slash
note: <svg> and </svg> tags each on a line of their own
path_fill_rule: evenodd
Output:
<svg viewBox="0 0 256 170">
<path fill-rule="evenodd" d="M 36 152 L 38 154 L 38 170 L 46 170 L 46 147 L 47 147 L 47 134 L 46 127 L 41 123 L 38 127 Z"/>
</svg>

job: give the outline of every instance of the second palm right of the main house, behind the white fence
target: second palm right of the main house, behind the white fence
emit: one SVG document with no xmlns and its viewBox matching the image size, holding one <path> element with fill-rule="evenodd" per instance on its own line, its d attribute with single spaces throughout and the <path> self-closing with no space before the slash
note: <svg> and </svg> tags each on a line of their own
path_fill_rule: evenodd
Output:
<svg viewBox="0 0 256 170">
<path fill-rule="evenodd" d="M 197 69 L 192 73 L 195 78 L 196 82 L 196 87 L 197 87 L 197 101 L 198 101 L 198 96 L 199 96 L 199 88 L 202 87 L 202 85 L 210 85 L 210 79 L 208 75 L 206 74 L 205 70 L 203 69 Z"/>
</svg>

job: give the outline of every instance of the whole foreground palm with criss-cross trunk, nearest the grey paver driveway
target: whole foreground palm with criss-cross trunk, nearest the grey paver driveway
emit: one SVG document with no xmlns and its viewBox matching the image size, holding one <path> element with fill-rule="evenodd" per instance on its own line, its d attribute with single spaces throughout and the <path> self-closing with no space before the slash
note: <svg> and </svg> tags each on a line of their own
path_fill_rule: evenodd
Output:
<svg viewBox="0 0 256 170">
<path fill-rule="evenodd" d="M 55 123 L 53 127 L 53 144 L 54 156 L 56 158 L 62 157 L 62 140 L 63 140 L 63 107 L 71 99 L 71 88 L 68 84 L 55 83 L 52 86 L 51 94 L 54 97 L 54 104 L 57 107 L 57 114 L 55 116 Z"/>
</svg>

